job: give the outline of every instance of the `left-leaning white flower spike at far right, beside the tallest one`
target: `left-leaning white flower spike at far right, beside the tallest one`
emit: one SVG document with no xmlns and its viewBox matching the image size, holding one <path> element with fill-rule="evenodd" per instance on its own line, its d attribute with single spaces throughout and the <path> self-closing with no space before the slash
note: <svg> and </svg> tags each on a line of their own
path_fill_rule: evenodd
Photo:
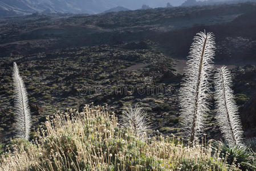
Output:
<svg viewBox="0 0 256 171">
<path fill-rule="evenodd" d="M 230 71 L 225 66 L 218 68 L 214 76 L 216 119 L 224 139 L 229 145 L 242 145 L 242 125 L 235 104 Z"/>
</svg>

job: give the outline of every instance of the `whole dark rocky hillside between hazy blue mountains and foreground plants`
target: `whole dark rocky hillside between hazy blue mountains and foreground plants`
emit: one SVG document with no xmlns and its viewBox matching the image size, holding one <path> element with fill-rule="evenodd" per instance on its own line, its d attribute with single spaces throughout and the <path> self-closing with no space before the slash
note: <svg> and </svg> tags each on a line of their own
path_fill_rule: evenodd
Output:
<svg viewBox="0 0 256 171">
<path fill-rule="evenodd" d="M 256 61 L 255 16 L 255 3 L 243 3 L 1 18 L 0 136 L 13 133 L 14 61 L 29 92 L 33 131 L 56 110 L 94 102 L 108 104 L 117 116 L 125 105 L 140 104 L 155 123 L 152 129 L 182 136 L 177 105 L 182 74 L 176 63 L 186 60 L 193 36 L 204 29 L 216 35 L 215 63 L 238 67 L 232 72 L 241 113 L 254 113 L 256 69 L 243 65 Z M 213 116 L 209 113 L 207 136 L 218 139 Z M 243 120 L 243 126 L 247 137 L 255 136 L 254 123 Z"/>
</svg>

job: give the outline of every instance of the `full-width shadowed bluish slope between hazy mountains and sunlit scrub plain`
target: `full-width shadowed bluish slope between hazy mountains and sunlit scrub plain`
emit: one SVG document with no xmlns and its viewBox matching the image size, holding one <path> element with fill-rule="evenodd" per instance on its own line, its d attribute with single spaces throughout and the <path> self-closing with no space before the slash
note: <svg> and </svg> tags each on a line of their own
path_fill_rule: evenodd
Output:
<svg viewBox="0 0 256 171">
<path fill-rule="evenodd" d="M 28 49 L 27 52 L 31 53 L 42 48 L 151 39 L 159 42 L 167 54 L 185 59 L 194 34 L 205 29 L 216 34 L 216 62 L 234 63 L 255 58 L 255 10 L 255 3 L 242 3 L 98 15 L 30 15 L 9 19 L 8 22 L 2 19 L 1 56 L 14 52 L 24 41 L 29 43 L 28 47 L 37 42 L 38 46 Z M 25 52 L 26 48 L 22 50 Z"/>
</svg>

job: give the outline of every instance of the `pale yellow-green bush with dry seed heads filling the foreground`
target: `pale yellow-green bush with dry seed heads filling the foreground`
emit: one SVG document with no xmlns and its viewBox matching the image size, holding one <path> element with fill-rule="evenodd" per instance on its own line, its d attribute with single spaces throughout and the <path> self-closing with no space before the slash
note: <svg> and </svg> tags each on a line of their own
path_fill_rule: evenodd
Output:
<svg viewBox="0 0 256 171">
<path fill-rule="evenodd" d="M 56 113 L 38 132 L 38 147 L 13 148 L 1 156 L 0 170 L 236 170 L 210 144 L 190 147 L 162 136 L 142 142 L 118 125 L 103 107 Z"/>
</svg>

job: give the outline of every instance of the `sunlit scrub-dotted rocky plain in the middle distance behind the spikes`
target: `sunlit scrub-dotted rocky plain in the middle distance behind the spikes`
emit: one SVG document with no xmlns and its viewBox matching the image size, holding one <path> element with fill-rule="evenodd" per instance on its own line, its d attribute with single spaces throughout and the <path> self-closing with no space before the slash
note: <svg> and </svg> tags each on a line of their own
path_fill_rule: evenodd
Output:
<svg viewBox="0 0 256 171">
<path fill-rule="evenodd" d="M 142 43 L 142 42 L 139 42 Z M 138 43 L 138 44 L 139 44 Z M 1 59 L 1 132 L 5 137 L 13 133 L 13 62 L 16 61 L 29 93 L 33 130 L 47 115 L 67 108 L 82 109 L 84 104 L 108 105 L 120 116 L 129 105 L 140 105 L 148 113 L 152 129 L 164 134 L 182 136 L 178 124 L 178 95 L 182 75 L 173 69 L 173 59 L 154 49 L 152 42 L 144 48 L 133 45 L 64 48 L 48 53 Z M 233 70 L 235 94 L 242 111 L 255 91 L 255 66 Z M 253 98 L 252 98 L 253 99 Z M 213 102 L 214 103 L 214 102 Z M 255 107 L 254 105 L 251 105 Z M 249 108 L 253 117 L 255 108 Z M 247 113 L 247 112 L 243 112 Z M 220 137 L 209 114 L 206 130 L 209 137 Z M 249 114 L 247 114 L 249 115 Z M 255 128 L 252 120 L 243 118 L 247 129 Z M 255 136 L 255 132 L 247 133 Z"/>
</svg>

